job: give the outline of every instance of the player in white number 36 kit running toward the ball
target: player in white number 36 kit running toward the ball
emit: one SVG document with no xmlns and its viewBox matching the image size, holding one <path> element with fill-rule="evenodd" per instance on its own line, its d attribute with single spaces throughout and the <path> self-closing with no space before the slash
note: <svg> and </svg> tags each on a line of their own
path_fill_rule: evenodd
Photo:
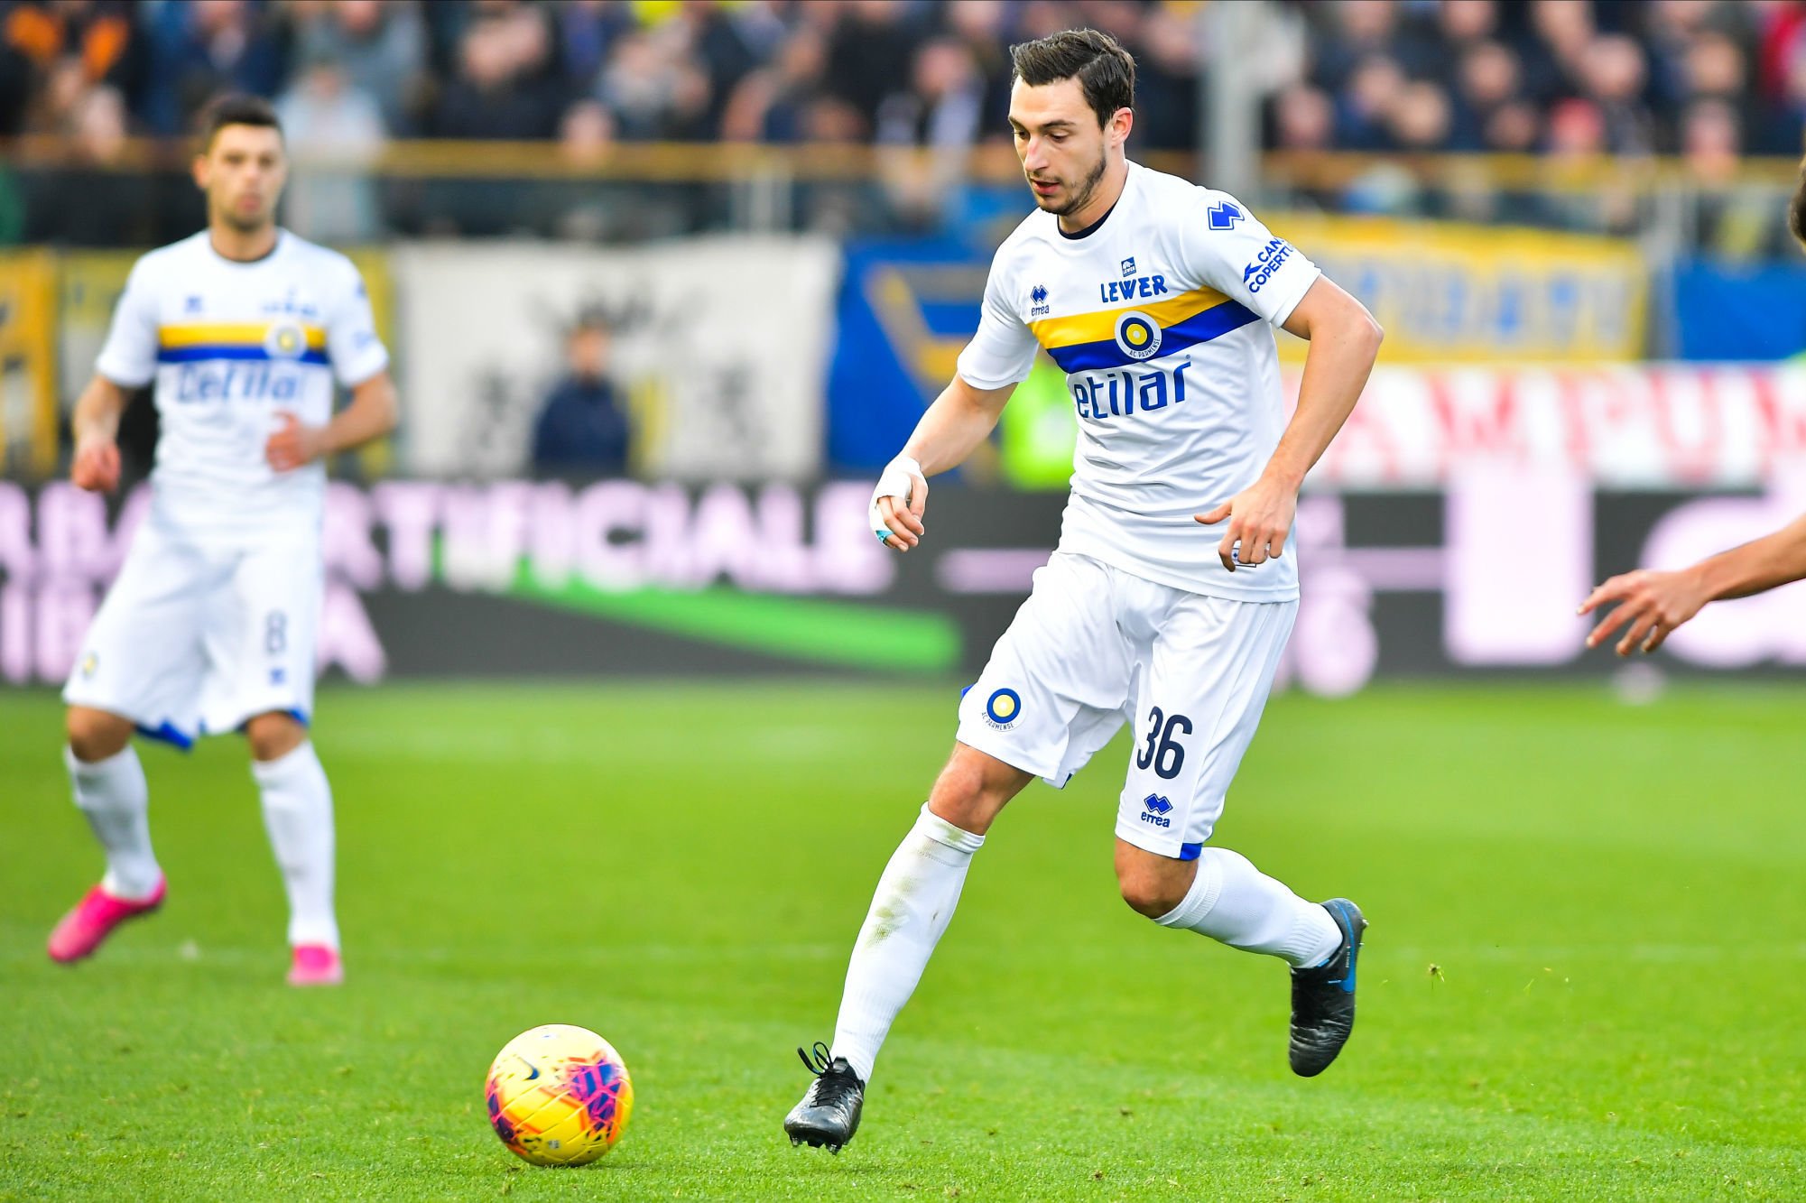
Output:
<svg viewBox="0 0 1806 1203">
<path fill-rule="evenodd" d="M 1107 34 L 1011 49 L 1010 125 L 1037 213 L 997 249 L 959 372 L 885 468 L 872 527 L 923 538 L 926 477 L 997 424 L 1038 349 L 1078 419 L 1060 544 L 959 706 L 959 737 L 878 881 L 833 1046 L 784 1120 L 852 1138 L 878 1048 L 959 901 L 973 853 L 1035 777 L 1064 786 L 1131 723 L 1116 813 L 1127 903 L 1291 966 L 1291 1068 L 1311 1077 L 1354 1021 L 1365 921 L 1210 847 L 1297 611 L 1284 546 L 1299 486 L 1347 419 L 1380 327 L 1221 191 L 1129 163 L 1134 61 Z M 1270 325 L 1308 338 L 1286 423 Z"/>
</svg>

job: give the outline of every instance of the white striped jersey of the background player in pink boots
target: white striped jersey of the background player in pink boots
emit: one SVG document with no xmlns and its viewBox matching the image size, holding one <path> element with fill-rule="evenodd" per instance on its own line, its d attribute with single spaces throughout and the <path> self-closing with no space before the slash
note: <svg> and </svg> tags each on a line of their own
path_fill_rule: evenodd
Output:
<svg viewBox="0 0 1806 1203">
<path fill-rule="evenodd" d="M 385 367 L 358 269 L 287 229 L 249 264 L 204 229 L 144 255 L 94 363 L 126 388 L 155 381 L 152 517 L 202 540 L 318 529 L 325 464 L 278 473 L 264 444 L 280 412 L 323 426 L 334 379 L 354 387 Z"/>
</svg>

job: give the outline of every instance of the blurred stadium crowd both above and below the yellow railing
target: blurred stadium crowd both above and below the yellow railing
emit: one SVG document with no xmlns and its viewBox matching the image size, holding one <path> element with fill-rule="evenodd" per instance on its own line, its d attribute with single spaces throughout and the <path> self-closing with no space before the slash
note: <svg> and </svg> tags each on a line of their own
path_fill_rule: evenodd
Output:
<svg viewBox="0 0 1806 1203">
<path fill-rule="evenodd" d="M 276 101 L 314 170 L 287 219 L 383 233 L 638 238 L 717 228 L 721 190 L 368 177 L 394 139 L 544 141 L 567 163 L 619 143 L 827 143 L 937 152 L 923 179 L 804 186 L 796 220 L 899 229 L 968 220 L 963 152 L 1004 141 L 1013 42 L 1071 25 L 1138 60 L 1136 145 L 1194 150 L 1212 25 L 1196 0 L 0 0 L 0 242 L 157 242 L 200 213 L 179 172 L 119 172 L 134 135 L 191 128 L 208 98 Z M 1680 155 L 1705 191 L 1694 237 L 1783 242 L 1745 155 L 1806 137 L 1806 0 L 1275 0 L 1237 47 L 1271 150 Z M 43 141 L 38 143 L 45 145 Z M 168 159 L 179 164 L 179 157 Z M 334 177 L 327 177 L 332 175 Z M 1019 197 L 1011 195 L 1011 202 Z M 1373 164 L 1288 202 L 1631 231 L 1634 188 L 1438 191 Z M 1723 231 L 1730 231 L 1728 235 Z M 1739 233 L 1746 231 L 1746 233 Z"/>
</svg>

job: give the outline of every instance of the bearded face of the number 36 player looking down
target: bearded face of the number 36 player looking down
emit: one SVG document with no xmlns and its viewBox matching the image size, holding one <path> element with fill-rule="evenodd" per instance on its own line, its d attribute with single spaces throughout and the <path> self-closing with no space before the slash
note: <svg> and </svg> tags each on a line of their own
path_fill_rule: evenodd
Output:
<svg viewBox="0 0 1806 1203">
<path fill-rule="evenodd" d="M 1057 215 L 1084 210 L 1111 154 L 1122 150 L 1127 121 L 1123 108 L 1098 126 L 1098 114 L 1085 103 L 1078 79 L 1038 87 L 1017 79 L 1010 89 L 1010 128 L 1035 204 Z"/>
</svg>

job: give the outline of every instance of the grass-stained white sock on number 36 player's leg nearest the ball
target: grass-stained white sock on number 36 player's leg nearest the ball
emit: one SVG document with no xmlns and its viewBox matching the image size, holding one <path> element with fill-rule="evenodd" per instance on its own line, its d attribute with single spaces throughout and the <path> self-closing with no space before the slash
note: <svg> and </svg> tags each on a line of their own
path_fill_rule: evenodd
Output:
<svg viewBox="0 0 1806 1203">
<path fill-rule="evenodd" d="M 959 905 L 972 854 L 982 845 L 984 836 L 937 818 L 923 804 L 916 825 L 878 878 L 834 1022 L 834 1057 L 845 1057 L 861 1082 L 872 1080 L 878 1046 L 916 992 Z"/>
</svg>

